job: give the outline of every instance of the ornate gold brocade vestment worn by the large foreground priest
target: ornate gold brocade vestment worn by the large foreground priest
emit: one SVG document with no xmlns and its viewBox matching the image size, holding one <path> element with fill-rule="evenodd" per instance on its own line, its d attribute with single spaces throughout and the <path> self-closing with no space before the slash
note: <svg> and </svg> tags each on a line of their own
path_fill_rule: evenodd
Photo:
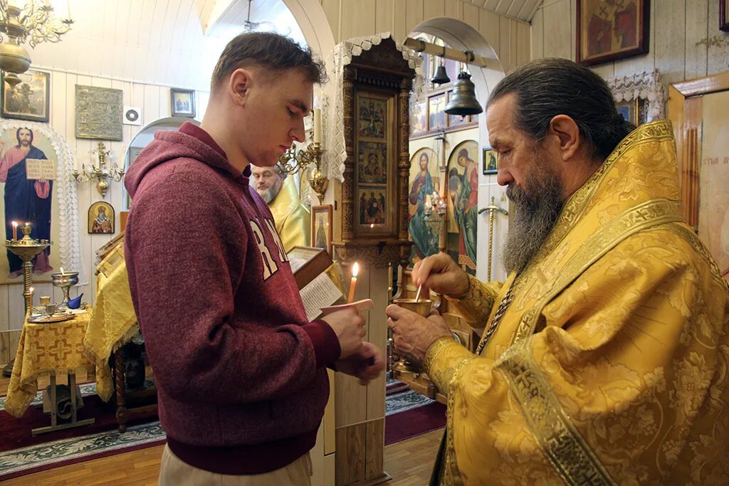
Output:
<svg viewBox="0 0 729 486">
<path fill-rule="evenodd" d="M 482 356 L 442 338 L 445 485 L 729 483 L 729 291 L 682 219 L 671 124 L 634 130 L 504 283 L 455 301 Z"/>
</svg>

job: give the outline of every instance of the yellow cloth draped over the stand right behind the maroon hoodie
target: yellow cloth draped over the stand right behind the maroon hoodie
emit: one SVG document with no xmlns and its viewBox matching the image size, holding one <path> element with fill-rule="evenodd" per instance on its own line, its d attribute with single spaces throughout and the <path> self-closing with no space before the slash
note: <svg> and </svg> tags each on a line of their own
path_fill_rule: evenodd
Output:
<svg viewBox="0 0 729 486">
<path fill-rule="evenodd" d="M 109 356 L 139 331 L 129 291 L 123 241 L 98 264 L 96 300 L 84 346 L 96 365 L 96 393 L 108 401 L 114 393 Z"/>
</svg>

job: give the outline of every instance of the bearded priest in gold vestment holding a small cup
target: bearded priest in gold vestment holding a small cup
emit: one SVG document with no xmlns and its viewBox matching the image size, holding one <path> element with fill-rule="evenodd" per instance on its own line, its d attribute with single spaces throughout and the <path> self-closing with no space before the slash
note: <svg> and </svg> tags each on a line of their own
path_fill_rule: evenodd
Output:
<svg viewBox="0 0 729 486">
<path fill-rule="evenodd" d="M 386 311 L 448 397 L 432 484 L 729 484 L 729 291 L 682 218 L 671 123 L 624 122 L 568 60 L 518 68 L 487 108 L 507 280 L 445 254 L 413 269 L 486 326 L 476 353 Z"/>
</svg>

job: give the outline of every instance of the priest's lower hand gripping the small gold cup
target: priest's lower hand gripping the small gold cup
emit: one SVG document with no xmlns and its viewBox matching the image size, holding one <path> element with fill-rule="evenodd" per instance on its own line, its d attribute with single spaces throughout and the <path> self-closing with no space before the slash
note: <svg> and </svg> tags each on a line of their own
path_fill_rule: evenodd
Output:
<svg viewBox="0 0 729 486">
<path fill-rule="evenodd" d="M 436 310 L 432 310 L 429 317 L 425 318 L 397 305 L 389 305 L 385 313 L 397 353 L 405 355 L 415 364 L 423 362 L 428 348 L 435 341 L 441 337 L 451 337 L 451 329 L 448 329 Z"/>
</svg>

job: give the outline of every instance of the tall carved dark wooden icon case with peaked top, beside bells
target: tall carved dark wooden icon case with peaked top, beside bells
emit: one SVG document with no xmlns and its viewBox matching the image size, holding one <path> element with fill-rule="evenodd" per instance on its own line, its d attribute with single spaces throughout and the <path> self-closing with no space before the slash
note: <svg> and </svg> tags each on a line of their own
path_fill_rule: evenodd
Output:
<svg viewBox="0 0 729 486">
<path fill-rule="evenodd" d="M 375 267 L 386 267 L 389 263 L 407 264 L 413 244 L 408 240 L 408 103 L 413 77 L 415 71 L 408 66 L 408 61 L 402 57 L 392 39 L 384 39 L 381 44 L 363 51 L 344 68 L 343 117 L 347 158 L 340 193 L 335 192 L 335 199 L 341 205 L 340 211 L 335 214 L 335 217 L 340 217 L 340 232 L 332 242 L 339 258 L 344 261 L 357 260 Z M 357 100 L 363 96 L 387 106 L 384 119 L 381 118 L 386 126 L 378 128 L 383 137 L 381 142 L 362 136 L 362 117 L 357 118 Z M 387 153 L 386 184 L 381 184 L 381 187 L 367 184 L 362 174 L 357 172 L 358 163 L 361 164 L 365 156 L 359 146 L 377 146 L 378 143 L 386 144 Z M 370 189 L 384 197 L 386 207 L 383 219 L 367 220 L 367 224 L 363 224 L 361 197 L 364 190 Z"/>
</svg>

